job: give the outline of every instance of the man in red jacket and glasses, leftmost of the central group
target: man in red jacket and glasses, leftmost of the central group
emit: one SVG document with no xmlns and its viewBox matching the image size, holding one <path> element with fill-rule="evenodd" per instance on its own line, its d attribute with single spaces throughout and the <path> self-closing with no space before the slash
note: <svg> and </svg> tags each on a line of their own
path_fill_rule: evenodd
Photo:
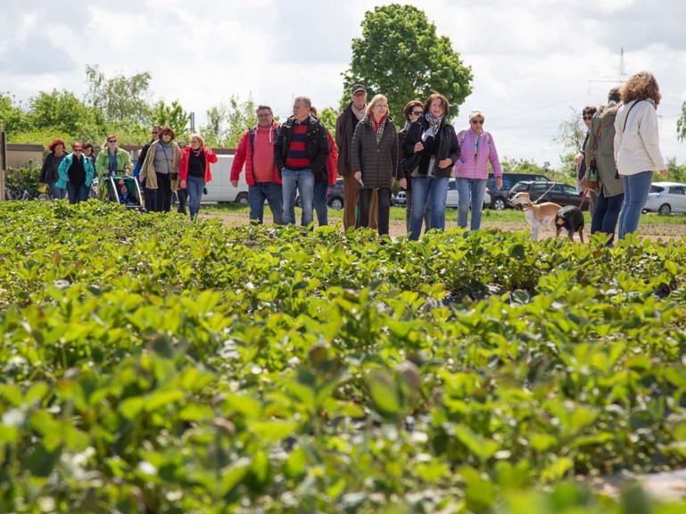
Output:
<svg viewBox="0 0 686 514">
<path fill-rule="evenodd" d="M 261 225 L 264 217 L 264 201 L 274 223 L 283 224 L 284 196 L 281 178 L 274 166 L 274 142 L 278 136 L 278 123 L 269 105 L 257 108 L 257 125 L 247 129 L 238 142 L 234 163 L 231 166 L 231 185 L 238 187 L 238 178 L 245 164 L 245 182 L 248 184 L 250 222 Z"/>
</svg>

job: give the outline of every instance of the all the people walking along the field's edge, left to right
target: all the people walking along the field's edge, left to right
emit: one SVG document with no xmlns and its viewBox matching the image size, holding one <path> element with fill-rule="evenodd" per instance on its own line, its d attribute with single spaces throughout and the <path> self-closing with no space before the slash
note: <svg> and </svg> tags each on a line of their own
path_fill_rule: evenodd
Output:
<svg viewBox="0 0 686 514">
<path fill-rule="evenodd" d="M 607 105 L 583 110 L 587 134 L 583 152 L 575 158 L 578 179 L 589 168 L 599 175 L 598 187 L 591 191 L 591 233 L 605 232 L 614 238 L 617 221 L 620 238 L 635 231 L 653 172 L 666 175 L 657 134 L 659 101 L 657 80 L 640 72 L 624 86 L 613 88 Z M 230 180 L 237 187 L 245 170 L 252 223 L 263 222 L 265 202 L 275 223 L 295 223 L 299 196 L 301 222 L 309 226 L 315 211 L 319 225 L 327 224 L 327 187 L 341 176 L 343 228 L 370 227 L 385 235 L 397 179 L 407 192 L 409 238 L 417 240 L 423 224 L 426 229 L 445 228 L 449 179 L 454 176 L 459 227 L 476 230 L 481 226 L 489 166 L 495 187 L 502 187 L 498 152 L 492 135 L 484 130 L 484 112 L 470 112 L 469 127 L 459 133 L 446 119 L 449 112 L 448 99 L 440 93 L 424 102 L 412 100 L 403 109 L 404 126 L 398 131 L 388 113 L 388 99 L 375 95 L 367 103 L 367 88 L 356 84 L 351 87 L 350 104 L 336 120 L 334 139 L 307 96 L 294 99 L 293 116 L 281 125 L 269 105 L 260 105 L 257 124 L 240 139 Z M 170 211 L 172 193 L 177 191 L 180 209 L 185 211 L 187 197 L 190 216 L 195 218 L 217 155 L 197 134 L 188 147 L 174 142 L 169 127 L 153 127 L 152 136 L 134 170 L 144 187 L 146 208 Z M 70 203 L 87 199 L 95 173 L 128 173 L 133 168 L 113 134 L 95 159 L 92 145 L 75 143 L 69 154 L 64 148 L 61 139 L 51 143 L 40 181 L 51 187 L 55 198 L 68 194 Z"/>
</svg>

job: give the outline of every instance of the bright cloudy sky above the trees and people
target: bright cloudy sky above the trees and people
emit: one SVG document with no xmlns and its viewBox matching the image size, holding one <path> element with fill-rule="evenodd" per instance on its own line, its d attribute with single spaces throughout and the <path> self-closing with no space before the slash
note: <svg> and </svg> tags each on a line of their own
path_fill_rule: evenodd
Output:
<svg viewBox="0 0 686 514">
<path fill-rule="evenodd" d="M 3 0 L 0 90 L 86 92 L 86 65 L 149 71 L 153 100 L 178 100 L 202 123 L 231 95 L 287 115 L 293 95 L 336 107 L 364 0 Z M 474 74 L 460 106 L 484 110 L 501 156 L 558 165 L 553 141 L 572 110 L 602 104 L 620 76 L 655 73 L 665 157 L 686 163 L 676 120 L 686 101 L 686 3 L 678 0 L 416 0 Z M 405 99 L 403 99 L 404 101 Z"/>
</svg>

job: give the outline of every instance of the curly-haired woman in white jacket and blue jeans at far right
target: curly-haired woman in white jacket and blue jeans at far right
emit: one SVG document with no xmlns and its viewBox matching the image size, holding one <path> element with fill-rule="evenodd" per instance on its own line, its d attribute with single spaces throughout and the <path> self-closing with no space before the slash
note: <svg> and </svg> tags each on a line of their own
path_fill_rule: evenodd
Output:
<svg viewBox="0 0 686 514">
<path fill-rule="evenodd" d="M 660 152 L 657 105 L 660 87 L 652 73 L 639 71 L 619 89 L 622 106 L 615 118 L 615 162 L 624 181 L 624 203 L 619 214 L 619 238 L 639 228 L 648 201 L 653 173 L 667 176 Z"/>
</svg>

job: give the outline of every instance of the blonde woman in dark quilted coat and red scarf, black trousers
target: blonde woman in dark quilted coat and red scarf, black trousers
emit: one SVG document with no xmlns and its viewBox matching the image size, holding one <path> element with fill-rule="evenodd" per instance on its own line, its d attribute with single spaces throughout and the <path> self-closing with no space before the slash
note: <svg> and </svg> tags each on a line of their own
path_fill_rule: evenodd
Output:
<svg viewBox="0 0 686 514">
<path fill-rule="evenodd" d="M 369 203 L 377 190 L 379 235 L 388 234 L 391 187 L 398 167 L 398 133 L 388 116 L 388 100 L 376 95 L 366 116 L 355 127 L 351 143 L 351 170 L 358 182 L 358 227 L 368 227 Z"/>
</svg>

